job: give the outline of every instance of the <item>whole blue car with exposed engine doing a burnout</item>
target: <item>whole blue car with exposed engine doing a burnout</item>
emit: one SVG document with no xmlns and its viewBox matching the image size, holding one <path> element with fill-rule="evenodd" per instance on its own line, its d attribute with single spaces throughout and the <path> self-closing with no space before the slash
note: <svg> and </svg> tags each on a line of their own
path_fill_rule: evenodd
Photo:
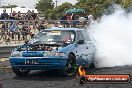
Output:
<svg viewBox="0 0 132 88">
<path fill-rule="evenodd" d="M 25 76 L 31 70 L 59 70 L 72 76 L 80 65 L 93 64 L 95 46 L 84 29 L 45 29 L 12 51 L 13 72 Z"/>
</svg>

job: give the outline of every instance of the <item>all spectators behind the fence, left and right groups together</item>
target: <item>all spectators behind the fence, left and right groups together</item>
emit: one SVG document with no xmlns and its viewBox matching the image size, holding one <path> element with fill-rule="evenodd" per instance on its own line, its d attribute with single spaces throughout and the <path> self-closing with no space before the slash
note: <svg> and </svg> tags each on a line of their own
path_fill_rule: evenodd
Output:
<svg viewBox="0 0 132 88">
<path fill-rule="evenodd" d="M 3 35 L 8 35 L 11 39 L 14 39 L 14 36 L 17 35 L 18 40 L 21 39 L 21 35 L 23 40 L 27 38 L 27 35 L 33 37 L 34 33 L 31 32 L 30 24 L 33 25 L 33 29 L 38 29 L 38 31 L 46 28 L 46 26 L 43 26 L 43 23 L 38 23 L 38 21 L 36 21 L 38 18 L 39 17 L 36 13 L 34 13 L 34 10 L 28 10 L 27 13 L 13 11 L 10 15 L 6 12 L 6 10 L 3 10 L 3 13 L 0 16 L 0 24 L 2 25 L 0 30 L 0 39 L 2 39 Z M 81 22 L 87 24 L 92 21 L 94 21 L 94 18 L 89 14 L 64 14 L 60 18 L 60 25 L 63 25 L 63 27 L 69 27 L 69 25 L 76 27 L 76 25 Z M 22 25 L 22 27 L 20 28 L 18 25 Z M 54 24 L 54 27 L 57 26 L 58 24 Z M 8 39 L 10 40 L 10 38 Z"/>
</svg>

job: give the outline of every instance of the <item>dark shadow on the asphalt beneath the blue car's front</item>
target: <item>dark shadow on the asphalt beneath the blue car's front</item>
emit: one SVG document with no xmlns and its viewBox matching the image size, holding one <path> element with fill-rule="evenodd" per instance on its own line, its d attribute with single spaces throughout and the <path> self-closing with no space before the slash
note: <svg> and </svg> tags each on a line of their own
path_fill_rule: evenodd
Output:
<svg viewBox="0 0 132 88">
<path fill-rule="evenodd" d="M 64 77 L 56 71 L 34 71 L 27 76 L 14 76 L 16 80 L 36 80 L 36 81 L 64 81 L 75 79 L 73 77 Z"/>
</svg>

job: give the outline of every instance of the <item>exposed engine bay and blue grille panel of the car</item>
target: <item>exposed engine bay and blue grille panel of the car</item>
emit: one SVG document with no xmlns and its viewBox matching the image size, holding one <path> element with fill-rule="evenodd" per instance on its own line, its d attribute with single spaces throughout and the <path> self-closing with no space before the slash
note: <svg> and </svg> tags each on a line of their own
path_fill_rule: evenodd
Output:
<svg viewBox="0 0 132 88">
<path fill-rule="evenodd" d="M 23 57 L 43 57 L 45 52 L 63 52 L 67 54 L 74 47 L 74 44 L 25 44 L 17 47 L 15 51 L 22 52 Z"/>
</svg>

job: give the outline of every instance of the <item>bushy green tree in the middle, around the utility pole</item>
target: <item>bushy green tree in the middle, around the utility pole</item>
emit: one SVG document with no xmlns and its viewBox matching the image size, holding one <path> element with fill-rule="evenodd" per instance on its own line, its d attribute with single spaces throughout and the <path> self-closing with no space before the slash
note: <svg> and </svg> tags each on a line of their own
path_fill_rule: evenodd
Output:
<svg viewBox="0 0 132 88">
<path fill-rule="evenodd" d="M 54 7 L 52 0 L 39 0 L 35 8 L 40 13 L 43 13 L 46 19 L 57 19 L 62 16 L 63 12 L 72 7 L 72 4 L 67 2 L 60 6 Z"/>
</svg>

